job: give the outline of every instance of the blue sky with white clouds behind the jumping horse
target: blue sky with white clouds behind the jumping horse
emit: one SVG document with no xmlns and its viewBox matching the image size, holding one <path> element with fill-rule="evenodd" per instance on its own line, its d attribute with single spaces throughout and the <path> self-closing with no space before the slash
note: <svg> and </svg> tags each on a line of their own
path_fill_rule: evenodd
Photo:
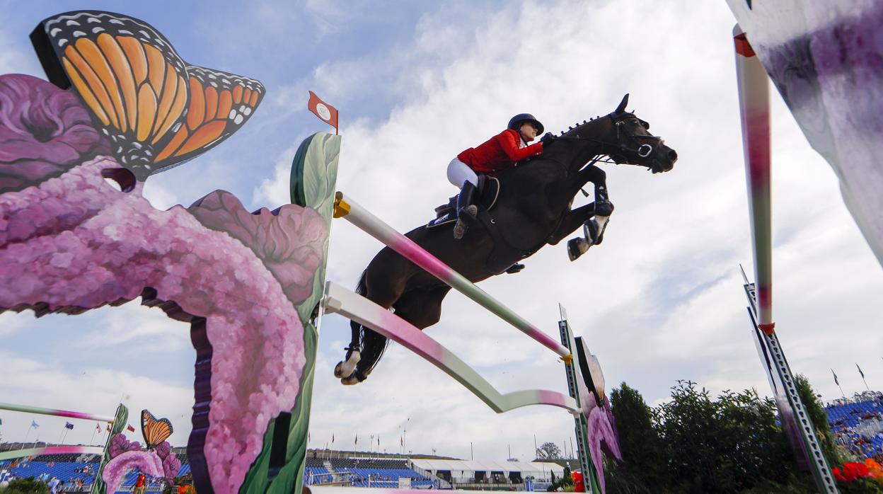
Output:
<svg viewBox="0 0 883 494">
<path fill-rule="evenodd" d="M 209 6 L 210 5 L 210 6 Z M 14 6 L 14 8 L 13 8 Z M 338 190 L 405 232 L 457 191 L 450 159 L 531 112 L 558 132 L 630 110 L 677 150 L 673 171 L 604 165 L 616 210 L 604 243 L 570 262 L 564 242 L 517 275 L 481 288 L 557 338 L 558 304 L 601 363 L 608 391 L 627 383 L 649 405 L 679 379 L 713 393 L 771 391 L 753 344 L 739 271 L 751 237 L 731 41 L 719 2 L 253 1 L 93 2 L 143 19 L 188 63 L 260 80 L 247 125 L 192 162 L 147 179 L 158 209 L 216 189 L 251 209 L 289 202 L 301 141 L 330 129 L 306 110 L 313 90 L 340 110 Z M 0 73 L 43 76 L 27 35 L 61 2 L 0 2 Z M 883 272 L 849 217 L 831 167 L 772 91 L 774 321 L 795 373 L 825 400 L 883 388 Z M 332 131 L 333 132 L 333 131 Z M 585 203 L 579 196 L 574 207 Z M 354 286 L 381 245 L 332 228 L 328 279 Z M 750 274 L 751 276 L 751 274 Z M 570 450 L 573 422 L 555 407 L 494 414 L 439 369 L 391 345 L 370 378 L 332 376 L 349 322 L 321 323 L 310 447 L 533 459 L 534 440 Z M 0 315 L 0 402 L 168 417 L 173 445 L 190 432 L 195 352 L 185 323 L 132 301 L 85 315 Z M 459 293 L 426 330 L 503 392 L 567 392 L 556 355 Z M 64 419 L 0 412 L 3 441 L 57 441 Z M 34 420 L 39 429 L 29 429 Z M 76 421 L 64 441 L 97 444 Z M 132 425 L 137 422 L 130 420 Z M 91 428 L 91 429 L 90 429 Z M 332 443 L 332 437 L 334 442 Z M 378 445 L 379 441 L 379 445 Z M 403 445 L 404 443 L 404 445 Z"/>
</svg>

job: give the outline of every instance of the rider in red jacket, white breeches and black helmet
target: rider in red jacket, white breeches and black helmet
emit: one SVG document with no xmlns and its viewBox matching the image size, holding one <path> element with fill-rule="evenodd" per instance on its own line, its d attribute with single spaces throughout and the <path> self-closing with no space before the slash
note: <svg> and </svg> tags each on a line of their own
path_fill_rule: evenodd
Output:
<svg viewBox="0 0 883 494">
<path fill-rule="evenodd" d="M 478 173 L 494 176 L 508 170 L 527 157 L 543 153 L 543 147 L 555 139 L 552 133 L 544 135 L 540 142 L 528 145 L 543 133 L 543 125 L 530 113 L 519 113 L 509 120 L 506 130 L 494 135 L 478 148 L 468 148 L 448 164 L 448 179 L 461 187 L 457 197 L 457 225 L 454 238 L 461 239 L 466 229 L 475 223 L 479 208 L 475 204 L 479 186 Z M 522 266 L 523 267 L 523 266 Z"/>
</svg>

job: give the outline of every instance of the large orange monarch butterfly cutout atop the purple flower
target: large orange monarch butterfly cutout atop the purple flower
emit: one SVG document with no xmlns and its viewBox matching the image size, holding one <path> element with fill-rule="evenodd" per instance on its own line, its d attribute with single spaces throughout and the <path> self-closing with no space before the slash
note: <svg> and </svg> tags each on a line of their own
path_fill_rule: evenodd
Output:
<svg viewBox="0 0 883 494">
<path fill-rule="evenodd" d="M 139 180 L 230 137 L 266 94 L 258 80 L 187 64 L 154 27 L 117 13 L 58 14 L 31 42 L 49 81 L 74 87 Z"/>
</svg>

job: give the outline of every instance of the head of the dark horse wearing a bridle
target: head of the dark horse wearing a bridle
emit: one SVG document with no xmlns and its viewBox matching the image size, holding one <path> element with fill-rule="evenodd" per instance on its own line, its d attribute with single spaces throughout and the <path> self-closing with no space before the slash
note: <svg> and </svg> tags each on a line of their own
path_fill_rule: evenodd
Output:
<svg viewBox="0 0 883 494">
<path fill-rule="evenodd" d="M 606 117 L 612 129 L 600 141 L 607 155 L 615 163 L 646 166 L 653 173 L 671 170 L 677 161 L 675 149 L 669 148 L 660 137 L 650 133 L 650 124 L 638 118 L 634 110 L 626 111 L 628 103 L 627 94 L 616 110 Z"/>
</svg>

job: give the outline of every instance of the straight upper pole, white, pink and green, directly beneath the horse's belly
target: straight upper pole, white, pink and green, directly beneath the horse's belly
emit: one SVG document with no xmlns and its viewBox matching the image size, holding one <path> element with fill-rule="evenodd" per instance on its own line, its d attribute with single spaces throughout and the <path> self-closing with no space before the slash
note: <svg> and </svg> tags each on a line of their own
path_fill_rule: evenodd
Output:
<svg viewBox="0 0 883 494">
<path fill-rule="evenodd" d="M 419 247 L 419 245 L 397 232 L 389 224 L 383 223 L 380 218 L 375 217 L 370 211 L 344 196 L 342 192 L 337 192 L 335 195 L 334 217 L 343 217 L 351 224 L 355 224 L 360 230 L 403 255 L 405 259 L 417 264 L 429 274 L 450 285 L 457 292 L 463 293 L 481 307 L 487 308 L 487 310 L 501 317 L 503 321 L 512 324 L 527 336 L 539 341 L 542 346 L 546 346 L 560 355 L 563 361 L 567 363 L 572 361 L 573 355 L 570 354 L 570 351 L 565 346 L 555 341 L 555 338 L 540 331 L 532 323 L 528 323 L 523 317 L 502 305 L 499 300 L 494 299 L 487 292 L 473 285 L 471 281 L 460 273 L 452 270 L 447 264 L 439 261 L 434 255 L 426 252 L 423 247 Z"/>
</svg>

